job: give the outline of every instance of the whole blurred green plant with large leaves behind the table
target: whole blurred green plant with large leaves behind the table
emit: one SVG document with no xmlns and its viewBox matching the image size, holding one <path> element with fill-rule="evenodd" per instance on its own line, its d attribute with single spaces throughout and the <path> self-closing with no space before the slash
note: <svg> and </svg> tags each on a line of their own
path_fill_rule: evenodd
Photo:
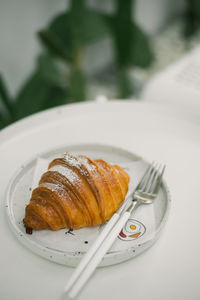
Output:
<svg viewBox="0 0 200 300">
<path fill-rule="evenodd" d="M 90 80 L 84 70 L 85 50 L 105 37 L 112 40 L 116 97 L 130 97 L 130 68 L 148 67 L 153 60 L 148 37 L 132 16 L 134 2 L 115 0 L 115 12 L 108 15 L 88 8 L 85 0 L 72 0 L 68 11 L 39 31 L 44 50 L 15 99 L 0 77 L 0 128 L 50 107 L 86 100 Z"/>
</svg>

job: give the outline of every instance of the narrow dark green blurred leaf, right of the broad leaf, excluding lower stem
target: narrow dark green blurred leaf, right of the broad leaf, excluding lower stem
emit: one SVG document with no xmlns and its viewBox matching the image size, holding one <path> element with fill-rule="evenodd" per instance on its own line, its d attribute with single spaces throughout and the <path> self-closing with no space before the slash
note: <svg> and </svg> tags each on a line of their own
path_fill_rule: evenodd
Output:
<svg viewBox="0 0 200 300">
<path fill-rule="evenodd" d="M 148 36 L 132 18 L 134 1 L 116 2 L 116 13 L 113 16 L 106 16 L 105 20 L 112 32 L 117 65 L 122 69 L 133 65 L 148 67 L 153 61 L 153 52 Z"/>
</svg>

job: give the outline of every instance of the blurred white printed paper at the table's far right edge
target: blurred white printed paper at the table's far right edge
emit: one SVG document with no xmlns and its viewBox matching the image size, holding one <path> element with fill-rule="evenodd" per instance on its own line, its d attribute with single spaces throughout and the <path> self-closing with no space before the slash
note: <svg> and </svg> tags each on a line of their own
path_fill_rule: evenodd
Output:
<svg viewBox="0 0 200 300">
<path fill-rule="evenodd" d="M 141 98 L 185 112 L 192 120 L 200 117 L 200 46 L 153 76 Z"/>
</svg>

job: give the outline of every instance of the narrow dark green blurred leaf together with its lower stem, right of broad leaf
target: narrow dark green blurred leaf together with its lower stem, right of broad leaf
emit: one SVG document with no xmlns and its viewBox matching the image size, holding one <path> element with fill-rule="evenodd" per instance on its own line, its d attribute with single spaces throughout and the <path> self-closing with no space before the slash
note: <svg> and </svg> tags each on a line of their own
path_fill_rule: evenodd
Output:
<svg viewBox="0 0 200 300">
<path fill-rule="evenodd" d="M 153 60 L 149 40 L 133 20 L 133 5 L 131 0 L 116 0 L 116 12 L 106 18 L 113 39 L 116 88 L 120 98 L 128 98 L 133 94 L 134 83 L 129 78 L 130 68 L 148 67 Z"/>
</svg>

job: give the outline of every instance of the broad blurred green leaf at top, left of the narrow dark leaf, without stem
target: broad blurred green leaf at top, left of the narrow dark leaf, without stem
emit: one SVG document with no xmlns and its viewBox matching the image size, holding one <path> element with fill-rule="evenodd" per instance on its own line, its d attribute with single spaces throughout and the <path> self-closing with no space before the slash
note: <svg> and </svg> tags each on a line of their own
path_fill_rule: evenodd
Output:
<svg viewBox="0 0 200 300">
<path fill-rule="evenodd" d="M 72 3 L 69 12 L 60 14 L 46 30 L 39 32 L 46 48 L 67 61 L 71 61 L 77 47 L 85 47 L 109 33 L 101 14 L 83 9 L 81 1 Z"/>
</svg>

